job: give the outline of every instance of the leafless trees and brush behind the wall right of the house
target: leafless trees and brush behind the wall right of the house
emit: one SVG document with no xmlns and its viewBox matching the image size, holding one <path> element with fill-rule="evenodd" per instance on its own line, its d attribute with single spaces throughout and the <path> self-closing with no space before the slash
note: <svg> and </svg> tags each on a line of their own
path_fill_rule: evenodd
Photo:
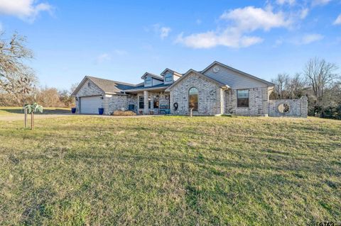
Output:
<svg viewBox="0 0 341 226">
<path fill-rule="evenodd" d="M 308 115 L 341 119 L 341 80 L 336 64 L 318 57 L 308 60 L 303 72 L 278 74 L 272 99 L 308 97 Z"/>
</svg>

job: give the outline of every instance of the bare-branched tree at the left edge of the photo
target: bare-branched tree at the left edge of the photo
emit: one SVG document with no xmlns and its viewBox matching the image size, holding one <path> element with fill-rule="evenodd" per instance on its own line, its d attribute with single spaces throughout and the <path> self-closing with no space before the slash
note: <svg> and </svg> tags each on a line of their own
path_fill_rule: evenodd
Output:
<svg viewBox="0 0 341 226">
<path fill-rule="evenodd" d="M 31 85 L 36 79 L 33 69 L 24 63 L 33 58 L 25 42 L 26 38 L 17 33 L 9 39 L 0 33 L 0 91 L 12 95 L 18 103 L 23 94 L 31 91 Z"/>
</svg>

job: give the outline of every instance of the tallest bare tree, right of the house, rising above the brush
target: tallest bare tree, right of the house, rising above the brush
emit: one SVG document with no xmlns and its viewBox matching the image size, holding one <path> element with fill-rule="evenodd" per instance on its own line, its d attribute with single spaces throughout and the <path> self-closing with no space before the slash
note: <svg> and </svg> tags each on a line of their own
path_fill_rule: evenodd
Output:
<svg viewBox="0 0 341 226">
<path fill-rule="evenodd" d="M 304 76 L 306 82 L 313 91 L 316 103 L 321 106 L 325 90 L 330 88 L 334 81 L 339 77 L 336 64 L 320 60 L 317 57 L 310 59 L 305 64 Z"/>
</svg>

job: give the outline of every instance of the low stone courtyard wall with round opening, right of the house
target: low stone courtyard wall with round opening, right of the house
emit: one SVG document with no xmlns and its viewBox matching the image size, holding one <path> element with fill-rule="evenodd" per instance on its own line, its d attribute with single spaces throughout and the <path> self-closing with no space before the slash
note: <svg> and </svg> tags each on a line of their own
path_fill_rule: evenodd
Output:
<svg viewBox="0 0 341 226">
<path fill-rule="evenodd" d="M 280 111 L 280 106 L 286 104 L 286 112 Z M 269 116 L 271 117 L 302 117 L 308 116 L 308 98 L 302 96 L 300 99 L 289 100 L 270 100 Z"/>
</svg>

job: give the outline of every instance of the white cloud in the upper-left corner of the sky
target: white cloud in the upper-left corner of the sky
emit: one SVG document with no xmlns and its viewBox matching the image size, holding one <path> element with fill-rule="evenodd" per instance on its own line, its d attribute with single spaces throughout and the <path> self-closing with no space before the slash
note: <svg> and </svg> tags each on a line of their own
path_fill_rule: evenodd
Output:
<svg viewBox="0 0 341 226">
<path fill-rule="evenodd" d="M 23 21 L 33 22 L 42 11 L 52 12 L 48 3 L 36 4 L 36 0 L 0 0 L 0 14 L 16 16 Z"/>
</svg>

